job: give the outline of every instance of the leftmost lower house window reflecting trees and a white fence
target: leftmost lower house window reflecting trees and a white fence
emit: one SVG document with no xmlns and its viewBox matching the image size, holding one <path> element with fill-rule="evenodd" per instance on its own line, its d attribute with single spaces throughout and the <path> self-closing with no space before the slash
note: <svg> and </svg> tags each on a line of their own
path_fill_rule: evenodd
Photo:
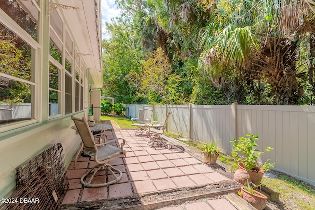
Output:
<svg viewBox="0 0 315 210">
<path fill-rule="evenodd" d="M 34 119 L 35 50 L 0 23 L 0 126 Z"/>
</svg>

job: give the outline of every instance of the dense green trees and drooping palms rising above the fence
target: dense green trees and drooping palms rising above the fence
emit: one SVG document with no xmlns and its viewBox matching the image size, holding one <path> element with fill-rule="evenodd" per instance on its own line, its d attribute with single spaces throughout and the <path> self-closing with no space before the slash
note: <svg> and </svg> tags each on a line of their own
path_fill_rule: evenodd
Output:
<svg viewBox="0 0 315 210">
<path fill-rule="evenodd" d="M 117 0 L 104 95 L 123 103 L 315 102 L 312 0 Z"/>
</svg>

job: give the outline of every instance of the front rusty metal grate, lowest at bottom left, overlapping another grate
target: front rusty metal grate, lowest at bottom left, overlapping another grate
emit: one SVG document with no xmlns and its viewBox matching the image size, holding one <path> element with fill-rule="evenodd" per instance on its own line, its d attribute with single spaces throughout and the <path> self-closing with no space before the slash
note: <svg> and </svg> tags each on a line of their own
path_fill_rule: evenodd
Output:
<svg viewBox="0 0 315 210">
<path fill-rule="evenodd" d="M 59 210 L 62 202 L 45 166 L 36 170 L 0 210 Z"/>
</svg>

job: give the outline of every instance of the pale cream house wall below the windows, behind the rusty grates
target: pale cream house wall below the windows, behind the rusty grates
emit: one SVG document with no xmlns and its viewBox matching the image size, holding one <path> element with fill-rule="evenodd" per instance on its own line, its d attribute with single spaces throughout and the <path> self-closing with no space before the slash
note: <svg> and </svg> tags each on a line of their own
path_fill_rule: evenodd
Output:
<svg viewBox="0 0 315 210">
<path fill-rule="evenodd" d="M 82 117 L 83 114 L 77 116 Z M 81 142 L 76 131 L 71 129 L 73 125 L 71 118 L 66 117 L 2 137 L 0 139 L 0 197 L 7 197 L 15 190 L 16 168 L 55 143 L 62 144 L 65 164 L 68 166 Z"/>
</svg>

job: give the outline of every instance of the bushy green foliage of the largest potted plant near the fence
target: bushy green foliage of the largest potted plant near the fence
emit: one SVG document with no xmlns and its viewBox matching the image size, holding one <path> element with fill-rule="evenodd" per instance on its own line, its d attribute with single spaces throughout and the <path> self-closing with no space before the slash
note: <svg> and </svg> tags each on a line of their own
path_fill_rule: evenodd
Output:
<svg viewBox="0 0 315 210">
<path fill-rule="evenodd" d="M 235 160 L 235 164 L 231 168 L 237 169 L 238 162 L 244 164 L 246 170 L 252 170 L 259 172 L 259 168 L 263 168 L 265 171 L 269 171 L 270 167 L 274 165 L 269 162 L 264 162 L 260 164 L 258 162 L 258 157 L 260 157 L 264 152 L 269 152 L 272 150 L 271 147 L 267 147 L 264 151 L 259 151 L 256 146 L 256 141 L 258 140 L 258 135 L 246 134 L 246 137 L 240 137 L 238 140 L 232 139 L 230 142 L 233 142 L 234 147 L 232 150 L 232 158 Z"/>
</svg>

